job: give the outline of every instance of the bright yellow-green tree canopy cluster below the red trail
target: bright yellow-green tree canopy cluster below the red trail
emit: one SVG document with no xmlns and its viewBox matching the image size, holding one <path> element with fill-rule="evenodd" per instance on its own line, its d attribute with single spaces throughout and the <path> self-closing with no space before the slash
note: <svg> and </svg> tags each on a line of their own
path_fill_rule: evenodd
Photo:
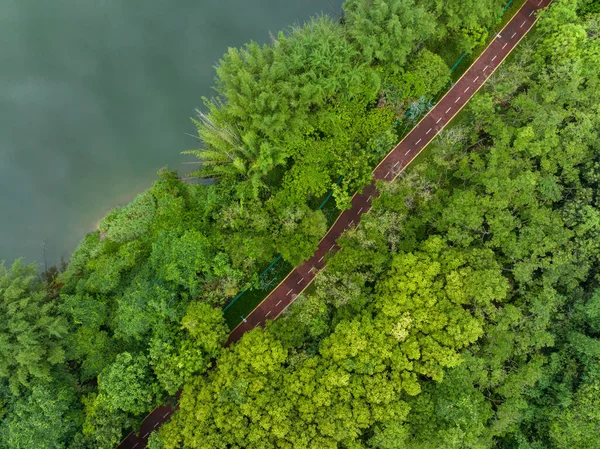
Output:
<svg viewBox="0 0 600 449">
<path fill-rule="evenodd" d="M 247 334 L 208 380 L 190 382 L 163 444 L 336 447 L 359 444 L 368 429 L 384 447 L 407 442 L 405 397 L 419 394 L 423 378 L 440 381 L 481 335 L 481 319 L 462 305 L 489 307 L 506 295 L 492 257 L 448 250 L 439 238 L 398 256 L 371 304 L 341 320 L 317 355 L 289 354 L 269 332 Z M 462 284 L 472 290 L 461 295 Z"/>
</svg>

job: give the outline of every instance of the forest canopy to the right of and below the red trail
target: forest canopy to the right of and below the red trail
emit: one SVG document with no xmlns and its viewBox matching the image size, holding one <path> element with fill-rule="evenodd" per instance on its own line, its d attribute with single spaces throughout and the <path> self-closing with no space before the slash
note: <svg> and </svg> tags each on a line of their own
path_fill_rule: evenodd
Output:
<svg viewBox="0 0 600 449">
<path fill-rule="evenodd" d="M 188 384 L 165 447 L 597 446 L 600 52 L 576 7 L 381 186 L 288 316 Z"/>
</svg>

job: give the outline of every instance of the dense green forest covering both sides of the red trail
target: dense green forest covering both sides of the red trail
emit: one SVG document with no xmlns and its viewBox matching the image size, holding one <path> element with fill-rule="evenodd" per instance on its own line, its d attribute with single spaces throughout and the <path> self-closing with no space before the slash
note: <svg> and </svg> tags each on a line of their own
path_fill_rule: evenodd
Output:
<svg viewBox="0 0 600 449">
<path fill-rule="evenodd" d="M 113 448 L 181 388 L 149 447 L 598 447 L 593 0 L 556 0 L 314 285 L 223 349 L 222 307 L 312 254 L 316 205 L 370 182 L 505 4 L 347 0 L 229 49 L 194 120 L 214 184 L 165 169 L 66 266 L 0 265 L 0 448 Z"/>
</svg>

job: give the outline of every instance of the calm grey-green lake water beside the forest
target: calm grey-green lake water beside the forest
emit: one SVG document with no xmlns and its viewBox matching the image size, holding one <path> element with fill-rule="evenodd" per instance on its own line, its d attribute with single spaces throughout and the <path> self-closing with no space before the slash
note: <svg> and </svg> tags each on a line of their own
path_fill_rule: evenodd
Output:
<svg viewBox="0 0 600 449">
<path fill-rule="evenodd" d="M 229 46 L 342 0 L 0 0 L 0 261 L 69 257 L 113 206 L 180 173 Z"/>
</svg>

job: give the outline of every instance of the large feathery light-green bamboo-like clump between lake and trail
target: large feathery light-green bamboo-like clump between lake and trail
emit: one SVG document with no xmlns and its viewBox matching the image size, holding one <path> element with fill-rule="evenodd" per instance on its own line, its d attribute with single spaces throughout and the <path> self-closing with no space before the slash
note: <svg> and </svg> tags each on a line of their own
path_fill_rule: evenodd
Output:
<svg viewBox="0 0 600 449">
<path fill-rule="evenodd" d="M 269 172 L 296 156 L 327 115 L 328 102 L 375 94 L 377 78 L 354 55 L 326 17 L 279 33 L 272 46 L 229 49 L 217 67 L 219 97 L 205 99 L 208 113 L 195 121 L 205 144 L 190 152 L 204 161 L 199 175 L 241 180 L 258 197 Z"/>
</svg>

